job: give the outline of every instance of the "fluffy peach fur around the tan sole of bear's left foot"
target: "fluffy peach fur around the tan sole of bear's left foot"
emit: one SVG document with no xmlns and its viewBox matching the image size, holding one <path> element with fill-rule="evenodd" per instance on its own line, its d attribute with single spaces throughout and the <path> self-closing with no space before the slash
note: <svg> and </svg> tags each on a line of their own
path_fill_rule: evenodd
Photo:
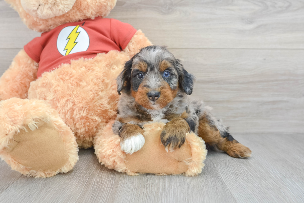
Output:
<svg viewBox="0 0 304 203">
<path fill-rule="evenodd" d="M 10 153 L 11 140 L 21 130 L 29 127 L 28 133 L 39 129 L 44 123 L 51 123 L 56 127 L 63 139 L 67 161 L 65 165 L 56 170 L 32 170 L 30 166 L 17 162 Z M 33 99 L 12 98 L 0 102 L 0 157 L 11 165 L 13 170 L 19 171 L 26 176 L 50 177 L 57 173 L 66 173 L 71 170 L 78 161 L 78 148 L 75 137 L 69 127 L 62 121 L 58 113 L 44 101 Z M 25 138 L 26 139 L 26 138 Z M 49 143 L 50 145 L 52 143 Z M 56 149 L 57 146 L 52 146 Z M 29 156 L 32 149 L 28 150 Z M 26 149 L 24 153 L 27 153 Z M 45 154 L 38 156 L 44 157 Z M 50 159 L 51 157 L 44 157 Z M 60 160 L 56 160 L 60 161 Z"/>
</svg>

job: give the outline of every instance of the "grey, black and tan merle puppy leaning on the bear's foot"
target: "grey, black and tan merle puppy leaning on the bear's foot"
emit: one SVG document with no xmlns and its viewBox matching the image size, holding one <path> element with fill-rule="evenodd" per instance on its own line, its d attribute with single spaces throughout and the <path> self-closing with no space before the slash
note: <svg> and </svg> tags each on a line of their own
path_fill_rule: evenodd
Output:
<svg viewBox="0 0 304 203">
<path fill-rule="evenodd" d="M 145 143 L 142 126 L 151 121 L 166 125 L 161 143 L 172 152 L 193 131 L 208 145 L 231 157 L 249 157 L 251 150 L 237 142 L 203 102 L 192 101 L 195 77 L 164 46 L 147 46 L 126 62 L 117 78 L 118 116 L 113 132 L 121 149 L 132 154 Z"/>
</svg>

